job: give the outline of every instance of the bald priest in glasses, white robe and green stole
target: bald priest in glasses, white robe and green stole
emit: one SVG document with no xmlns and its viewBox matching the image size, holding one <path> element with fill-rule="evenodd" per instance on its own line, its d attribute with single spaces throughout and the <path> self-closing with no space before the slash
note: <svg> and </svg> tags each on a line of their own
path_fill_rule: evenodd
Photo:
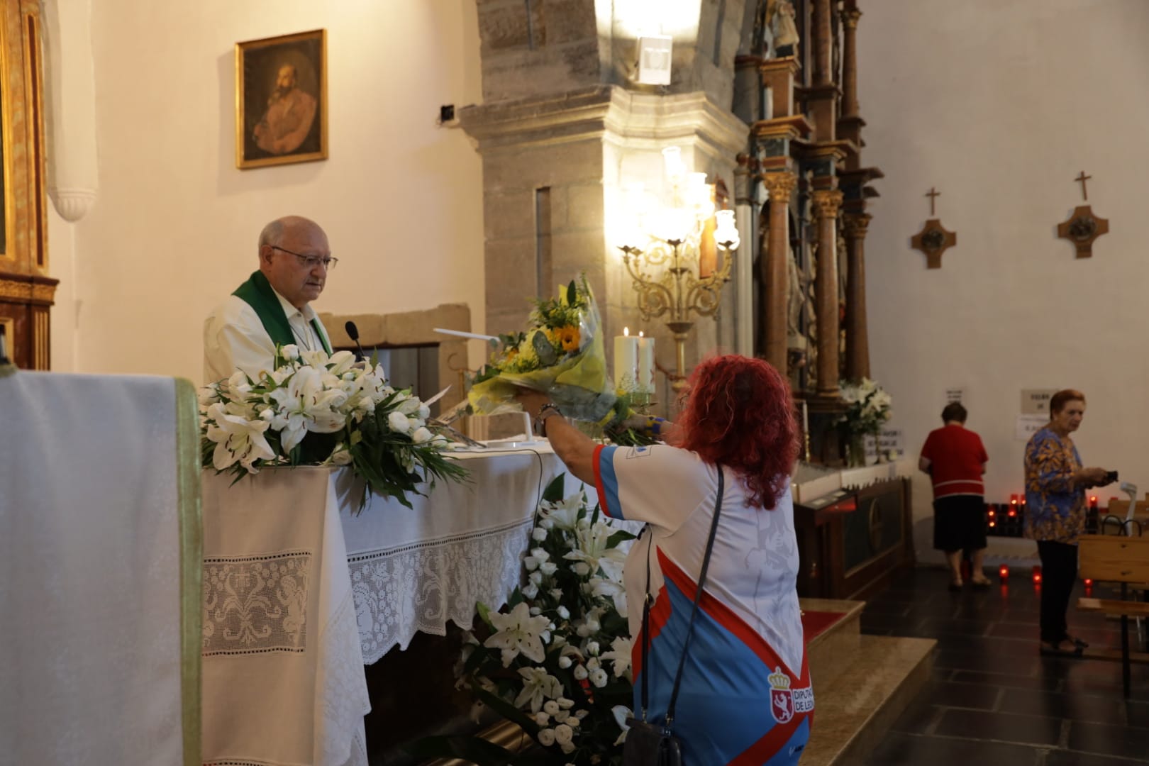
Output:
<svg viewBox="0 0 1149 766">
<path fill-rule="evenodd" d="M 319 296 L 331 256 L 327 235 L 314 220 L 285 216 L 260 233 L 260 268 L 203 325 L 203 381 L 242 370 L 252 379 L 271 371 L 276 346 L 331 353 L 331 340 L 310 302 Z"/>
</svg>

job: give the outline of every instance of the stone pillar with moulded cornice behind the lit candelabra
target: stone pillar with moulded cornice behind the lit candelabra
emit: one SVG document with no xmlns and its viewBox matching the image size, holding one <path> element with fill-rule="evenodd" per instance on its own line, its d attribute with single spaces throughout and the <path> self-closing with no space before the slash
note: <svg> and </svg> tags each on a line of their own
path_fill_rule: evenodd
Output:
<svg viewBox="0 0 1149 766">
<path fill-rule="evenodd" d="M 530 311 L 524 299 L 550 296 L 556 285 L 586 273 L 606 338 L 624 326 L 645 330 L 658 341 L 660 365 L 673 370 L 669 315 L 641 319 L 619 256 L 615 234 L 627 223 L 623 189 L 642 180 L 662 191 L 665 146 L 683 148 L 688 170 L 730 185 L 746 148 L 746 123 L 701 92 L 656 95 L 611 85 L 464 107 L 460 121 L 483 155 L 486 322 L 476 330 L 522 330 Z M 733 319 L 733 310 L 725 314 Z M 693 364 L 733 345 L 732 323 L 704 319 L 686 351 Z M 670 401 L 662 393 L 660 400 Z"/>
</svg>

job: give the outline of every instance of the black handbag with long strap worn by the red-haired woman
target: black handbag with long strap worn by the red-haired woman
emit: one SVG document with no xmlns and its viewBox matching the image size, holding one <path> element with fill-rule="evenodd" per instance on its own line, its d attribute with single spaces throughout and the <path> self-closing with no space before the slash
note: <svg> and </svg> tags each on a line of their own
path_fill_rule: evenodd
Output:
<svg viewBox="0 0 1149 766">
<path fill-rule="evenodd" d="M 642 718 L 629 719 L 630 730 L 623 748 L 623 766 L 683 766 L 683 746 L 671 727 L 674 722 L 674 704 L 678 702 L 678 684 L 683 680 L 683 667 L 686 664 L 686 650 L 691 645 L 694 633 L 694 617 L 699 612 L 699 601 L 702 598 L 702 586 L 707 581 L 707 570 L 710 567 L 710 554 L 715 546 L 715 533 L 718 531 L 718 514 L 722 512 L 722 495 L 725 487 L 722 466 L 718 466 L 718 498 L 715 501 L 715 518 L 710 523 L 710 536 L 707 539 L 707 552 L 702 557 L 702 572 L 699 574 L 699 589 L 694 594 L 694 606 L 691 609 L 691 624 L 686 628 L 686 641 L 683 643 L 683 656 L 678 658 L 678 672 L 674 673 L 674 688 L 670 693 L 666 705 L 666 720 L 651 724 L 646 719 L 649 690 L 649 652 L 650 652 L 650 548 L 647 548 L 647 583 L 646 596 L 642 598 Z"/>
</svg>

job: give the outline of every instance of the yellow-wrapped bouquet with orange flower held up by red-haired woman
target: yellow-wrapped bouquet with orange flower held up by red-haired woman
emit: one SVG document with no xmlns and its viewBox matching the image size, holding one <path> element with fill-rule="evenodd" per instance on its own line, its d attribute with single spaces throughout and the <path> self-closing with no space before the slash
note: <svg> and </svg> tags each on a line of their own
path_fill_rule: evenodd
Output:
<svg viewBox="0 0 1149 766">
<path fill-rule="evenodd" d="M 560 289 L 557 299 L 537 300 L 525 332 L 500 335 L 471 381 L 470 407 L 479 415 L 517 412 L 516 387 L 550 395 L 563 415 L 602 420 L 617 399 L 607 374 L 599 307 L 586 277 Z"/>
</svg>

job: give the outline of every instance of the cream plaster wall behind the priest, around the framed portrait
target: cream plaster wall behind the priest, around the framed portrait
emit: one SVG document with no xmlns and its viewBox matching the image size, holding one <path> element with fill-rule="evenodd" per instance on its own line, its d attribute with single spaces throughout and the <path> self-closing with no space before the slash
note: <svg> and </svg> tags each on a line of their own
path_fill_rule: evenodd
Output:
<svg viewBox="0 0 1149 766">
<path fill-rule="evenodd" d="M 435 125 L 440 105 L 480 99 L 473 0 L 102 0 L 92 23 L 100 193 L 74 238 L 52 225 L 79 302 L 76 322 L 57 308 L 56 369 L 199 381 L 205 316 L 285 214 L 318 220 L 340 258 L 317 310 L 463 302 L 483 327 L 480 161 Z M 234 44 L 319 28 L 330 158 L 238 170 Z"/>
</svg>

